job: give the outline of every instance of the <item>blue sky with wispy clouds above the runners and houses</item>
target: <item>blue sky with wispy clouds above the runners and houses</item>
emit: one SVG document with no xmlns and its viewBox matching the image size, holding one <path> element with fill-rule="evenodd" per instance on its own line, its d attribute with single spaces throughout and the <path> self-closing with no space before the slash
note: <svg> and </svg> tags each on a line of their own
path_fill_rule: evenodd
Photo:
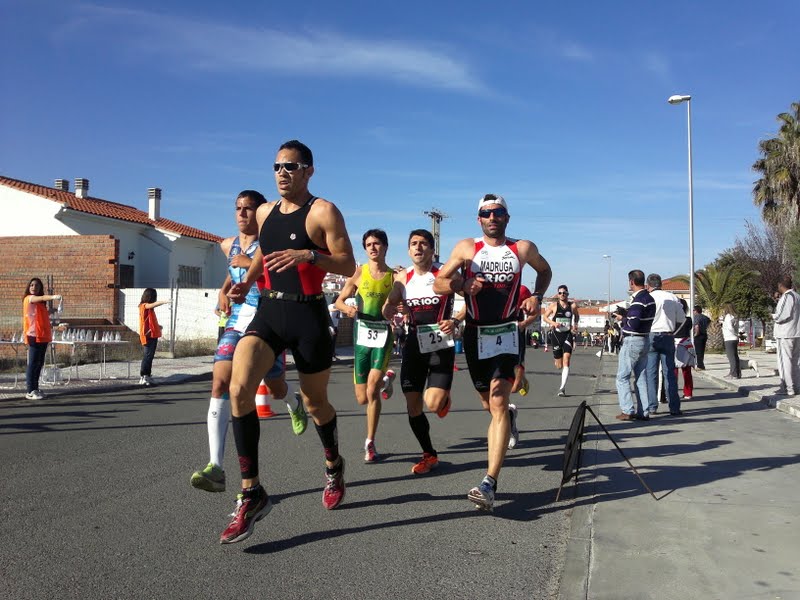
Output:
<svg viewBox="0 0 800 600">
<path fill-rule="evenodd" d="M 604 298 L 627 271 L 688 272 L 758 220 L 751 165 L 800 100 L 800 5 L 749 2 L 47 2 L 0 0 L 0 173 L 217 233 L 236 193 L 277 197 L 281 142 L 315 155 L 312 192 L 390 264 L 442 223 L 478 235 L 484 193 L 553 266 L 551 292 Z M 794 58 L 793 58 L 794 57 Z M 74 184 L 73 184 L 74 185 Z M 72 189 L 72 188 L 71 188 Z M 532 274 L 525 281 L 532 280 Z"/>
</svg>

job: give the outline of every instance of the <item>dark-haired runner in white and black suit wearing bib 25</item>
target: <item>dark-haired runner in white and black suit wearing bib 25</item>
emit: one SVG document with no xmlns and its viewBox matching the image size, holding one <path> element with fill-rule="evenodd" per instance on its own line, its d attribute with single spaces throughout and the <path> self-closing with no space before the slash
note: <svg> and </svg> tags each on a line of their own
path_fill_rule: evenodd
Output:
<svg viewBox="0 0 800 600">
<path fill-rule="evenodd" d="M 456 356 L 452 334 L 459 323 L 458 318 L 451 316 L 453 295 L 433 291 L 433 282 L 441 267 L 433 262 L 433 249 L 430 231 L 415 229 L 410 233 L 408 255 L 414 264 L 395 275 L 394 287 L 383 306 L 387 319 L 397 312 L 401 302 L 403 311 L 410 316 L 400 384 L 406 397 L 408 423 L 422 447 L 422 459 L 411 467 L 415 475 L 428 473 L 439 464 L 438 453 L 431 442 L 430 424 L 422 410 L 423 392 L 428 410 L 444 418 L 450 410 Z"/>
</svg>

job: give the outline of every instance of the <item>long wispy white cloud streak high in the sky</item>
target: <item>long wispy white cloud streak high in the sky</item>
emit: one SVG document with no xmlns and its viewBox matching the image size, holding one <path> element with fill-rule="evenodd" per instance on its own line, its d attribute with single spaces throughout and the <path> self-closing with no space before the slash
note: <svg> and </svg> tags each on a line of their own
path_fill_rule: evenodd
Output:
<svg viewBox="0 0 800 600">
<path fill-rule="evenodd" d="M 132 57 L 199 71 L 249 71 L 390 79 L 420 87 L 483 93 L 463 60 L 443 48 L 365 39 L 327 31 L 237 26 L 147 11 L 84 6 L 64 25 L 61 42 L 89 30 L 111 37 Z M 98 44 L 99 45 L 99 44 Z"/>
</svg>

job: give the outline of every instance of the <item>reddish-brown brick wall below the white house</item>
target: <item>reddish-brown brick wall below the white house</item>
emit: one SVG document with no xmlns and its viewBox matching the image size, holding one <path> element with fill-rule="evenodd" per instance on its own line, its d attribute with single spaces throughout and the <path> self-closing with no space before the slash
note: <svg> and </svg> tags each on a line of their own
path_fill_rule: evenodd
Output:
<svg viewBox="0 0 800 600">
<path fill-rule="evenodd" d="M 110 235 L 0 237 L 0 334 L 22 331 L 22 297 L 32 277 L 64 297 L 61 320 L 107 319 L 119 315 L 119 242 Z M 45 289 L 45 293 L 47 290 Z"/>
</svg>

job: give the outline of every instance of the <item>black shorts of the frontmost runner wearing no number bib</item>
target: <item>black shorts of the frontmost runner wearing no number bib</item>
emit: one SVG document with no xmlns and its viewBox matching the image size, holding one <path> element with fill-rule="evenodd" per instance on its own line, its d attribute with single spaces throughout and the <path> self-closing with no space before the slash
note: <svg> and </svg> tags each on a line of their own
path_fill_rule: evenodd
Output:
<svg viewBox="0 0 800 600">
<path fill-rule="evenodd" d="M 300 373 L 319 373 L 333 362 L 324 298 L 312 302 L 262 298 L 245 335 L 264 340 L 276 355 L 291 350 Z"/>
</svg>

